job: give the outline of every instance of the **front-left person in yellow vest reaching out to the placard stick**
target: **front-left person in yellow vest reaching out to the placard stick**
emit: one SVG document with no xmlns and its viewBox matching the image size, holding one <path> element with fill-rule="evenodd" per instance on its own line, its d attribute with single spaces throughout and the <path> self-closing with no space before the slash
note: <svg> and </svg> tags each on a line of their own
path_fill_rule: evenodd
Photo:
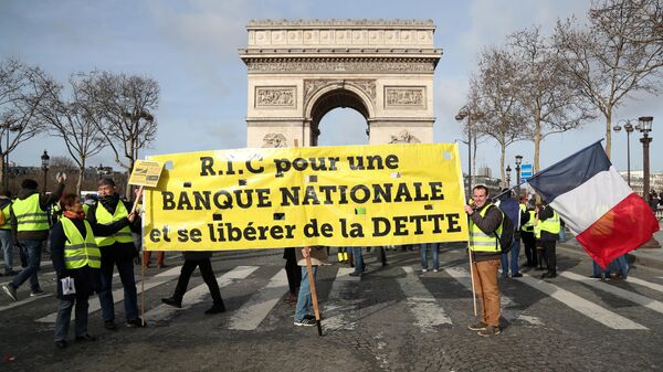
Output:
<svg viewBox="0 0 663 372">
<path fill-rule="evenodd" d="M 62 217 L 51 230 L 51 259 L 57 284 L 57 317 L 55 318 L 55 346 L 66 348 L 66 337 L 75 304 L 75 340 L 94 341 L 87 333 L 87 299 L 101 285 L 102 254 L 94 238 L 92 226 L 85 220 L 83 205 L 75 194 L 66 194 L 60 201 Z M 134 215 L 97 228 L 114 233 L 129 223 Z M 62 279 L 73 279 L 73 294 L 64 294 Z"/>
</svg>

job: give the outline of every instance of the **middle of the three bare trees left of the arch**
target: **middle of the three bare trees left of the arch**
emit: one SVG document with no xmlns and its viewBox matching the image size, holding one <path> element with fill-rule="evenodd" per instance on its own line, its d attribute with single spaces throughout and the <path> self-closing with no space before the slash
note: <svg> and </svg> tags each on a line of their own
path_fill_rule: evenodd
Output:
<svg viewBox="0 0 663 372">
<path fill-rule="evenodd" d="M 85 74 L 70 76 L 71 97 L 63 97 L 62 86 L 52 86 L 46 95 L 46 104 L 41 106 L 40 118 L 51 125 L 50 132 L 64 140 L 71 161 L 78 170 L 76 193 L 81 193 L 87 159 L 99 153 L 107 141 L 95 126 L 99 116 L 95 103 L 87 95 L 94 79 Z"/>
</svg>

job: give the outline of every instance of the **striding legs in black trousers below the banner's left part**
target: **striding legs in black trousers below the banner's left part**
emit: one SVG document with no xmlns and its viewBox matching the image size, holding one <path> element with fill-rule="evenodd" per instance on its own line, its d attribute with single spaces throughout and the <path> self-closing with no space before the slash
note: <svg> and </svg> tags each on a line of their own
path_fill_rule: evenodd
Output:
<svg viewBox="0 0 663 372">
<path fill-rule="evenodd" d="M 177 286 L 175 287 L 175 293 L 171 297 L 161 298 L 164 304 L 175 306 L 178 308 L 182 307 L 182 297 L 187 293 L 187 287 L 189 286 L 189 279 L 191 278 L 191 274 L 196 269 L 196 266 L 200 268 L 200 275 L 202 279 L 208 286 L 210 290 L 210 295 L 212 296 L 213 305 L 211 308 L 207 309 L 204 313 L 220 313 L 225 311 L 225 305 L 223 304 L 223 299 L 221 298 L 221 291 L 219 290 L 219 283 L 217 281 L 217 276 L 214 276 L 214 272 L 212 270 L 212 263 L 210 258 L 212 257 L 212 253 L 207 252 L 182 252 L 182 256 L 185 257 L 185 264 L 182 265 L 182 269 L 180 270 L 180 276 L 177 279 Z"/>
</svg>

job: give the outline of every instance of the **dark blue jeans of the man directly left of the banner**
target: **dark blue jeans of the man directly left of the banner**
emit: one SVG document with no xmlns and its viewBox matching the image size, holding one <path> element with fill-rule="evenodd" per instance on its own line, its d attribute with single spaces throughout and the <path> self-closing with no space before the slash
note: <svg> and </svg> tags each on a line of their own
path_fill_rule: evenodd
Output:
<svg viewBox="0 0 663 372">
<path fill-rule="evenodd" d="M 119 273 L 119 279 L 124 288 L 126 319 L 136 319 L 138 318 L 138 294 L 136 293 L 136 279 L 134 278 L 134 261 L 131 258 L 104 259 L 104 257 L 102 257 L 102 289 L 99 290 L 102 318 L 104 320 L 115 319 L 113 301 L 113 268 L 115 265 L 117 265 L 117 273 Z"/>
</svg>

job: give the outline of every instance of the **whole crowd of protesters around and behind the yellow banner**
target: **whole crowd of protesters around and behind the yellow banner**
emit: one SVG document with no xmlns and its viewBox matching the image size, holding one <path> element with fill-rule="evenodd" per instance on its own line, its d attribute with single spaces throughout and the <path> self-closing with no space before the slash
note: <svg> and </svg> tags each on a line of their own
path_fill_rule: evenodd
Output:
<svg viewBox="0 0 663 372">
<path fill-rule="evenodd" d="M 17 289 L 30 280 L 30 296 L 43 294 L 36 274 L 42 247 L 49 241 L 51 259 L 59 279 L 54 339 L 55 346 L 61 349 L 67 347 L 72 309 L 76 318 L 75 340 L 95 340 L 87 332 L 88 298 L 95 293 L 98 294 L 104 327 L 107 330 L 117 329 L 112 291 L 115 267 L 124 289 L 126 326 L 145 327 L 138 312 L 134 263 L 148 266 L 150 258 L 148 252 L 139 257 L 139 209 L 134 209 L 130 202 L 119 196 L 112 179 L 99 180 L 96 200 L 86 198 L 84 202 L 76 194 L 63 194 L 62 182 L 62 179 L 57 179 L 57 188 L 52 193 L 40 194 L 36 191 L 38 183 L 29 179 L 22 182 L 15 199 L 12 200 L 8 193 L 0 196 L 0 244 L 4 253 L 4 275 L 12 277 L 2 289 L 12 300 L 18 300 Z M 477 322 L 469 328 L 480 336 L 496 336 L 502 331 L 497 280 L 499 268 L 503 278 L 523 276 L 518 262 L 522 240 L 525 265 L 532 269 L 545 269 L 541 278 L 555 278 L 556 243 L 564 240 L 564 222 L 556 211 L 537 202 L 534 196 L 516 200 L 509 190 L 504 190 L 492 200 L 488 189 L 483 185 L 473 189 L 465 212 L 469 219 L 471 273 L 482 309 Z M 505 219 L 511 223 L 505 223 Z M 506 235 L 511 237 L 509 243 L 504 243 L 504 240 L 501 243 L 506 226 L 514 232 L 513 235 Z M 20 249 L 22 270 L 18 273 L 13 270 L 13 247 Z M 372 247 L 382 266 L 388 265 L 386 251 L 390 247 Z M 368 252 L 370 249 L 367 248 Z M 420 244 L 419 249 L 421 272 L 439 272 L 440 244 Z M 354 267 L 350 276 L 361 277 L 367 272 L 362 251 L 362 247 L 337 251 L 338 263 Z M 429 265 L 429 253 L 432 255 L 432 267 Z M 315 283 L 318 266 L 327 263 L 328 255 L 329 248 L 322 246 L 284 249 L 290 286 L 287 301 L 295 305 L 295 326 L 316 325 L 311 284 Z M 175 291 L 161 301 L 181 307 L 191 274 L 199 267 L 213 300 L 206 313 L 225 311 L 210 257 L 211 252 L 186 252 Z M 311 258 L 312 270 L 307 268 L 306 258 Z M 157 255 L 157 265 L 165 267 L 162 253 Z M 602 279 L 609 276 L 624 278 L 628 269 L 625 256 L 621 256 L 606 270 L 594 263 L 592 276 Z"/>
</svg>

